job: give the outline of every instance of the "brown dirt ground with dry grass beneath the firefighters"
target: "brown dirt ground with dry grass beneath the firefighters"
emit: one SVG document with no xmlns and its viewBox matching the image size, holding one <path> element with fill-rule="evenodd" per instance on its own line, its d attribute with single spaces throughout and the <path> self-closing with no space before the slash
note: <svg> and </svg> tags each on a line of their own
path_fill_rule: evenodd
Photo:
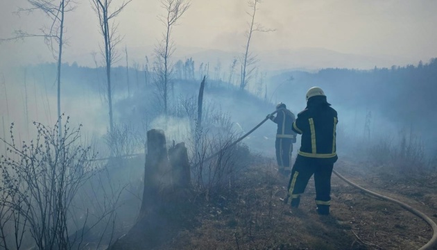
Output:
<svg viewBox="0 0 437 250">
<path fill-rule="evenodd" d="M 339 160 L 334 169 L 363 188 L 437 220 L 435 174 L 407 178 L 348 159 Z M 316 213 L 312 178 L 298 210 L 282 203 L 287 183 L 288 177 L 277 174 L 273 161 L 250 167 L 230 192 L 208 202 L 194 201 L 191 219 L 153 249 L 419 249 L 431 239 L 432 229 L 422 219 L 334 174 L 329 216 Z M 135 238 L 135 247 L 121 248 L 150 249 L 141 247 L 141 235 Z"/>
</svg>

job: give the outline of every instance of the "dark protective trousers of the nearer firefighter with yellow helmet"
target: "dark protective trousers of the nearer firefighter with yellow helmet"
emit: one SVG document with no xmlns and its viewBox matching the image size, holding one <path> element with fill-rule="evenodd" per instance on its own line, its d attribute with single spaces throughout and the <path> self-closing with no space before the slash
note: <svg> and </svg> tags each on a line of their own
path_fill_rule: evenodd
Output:
<svg viewBox="0 0 437 250">
<path fill-rule="evenodd" d="M 305 192 L 309 178 L 314 174 L 318 213 L 328 215 L 331 204 L 330 194 L 333 167 L 334 163 L 330 159 L 308 158 L 298 155 L 291 171 L 286 202 L 292 207 L 297 208 L 300 203 L 300 194 Z"/>
</svg>

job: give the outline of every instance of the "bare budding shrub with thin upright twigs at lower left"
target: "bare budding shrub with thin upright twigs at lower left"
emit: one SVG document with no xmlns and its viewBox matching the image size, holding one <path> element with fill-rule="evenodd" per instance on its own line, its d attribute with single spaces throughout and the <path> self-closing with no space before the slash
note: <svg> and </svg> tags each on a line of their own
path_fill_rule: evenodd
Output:
<svg viewBox="0 0 437 250">
<path fill-rule="evenodd" d="M 80 138 L 80 127 L 69 128 L 69 117 L 64 133 L 55 128 L 34 122 L 36 140 L 30 143 L 15 143 L 13 125 L 10 127 L 11 142 L 6 142 L 10 157 L 1 156 L 3 192 L 2 205 L 12 217 L 2 222 L 21 228 L 20 240 L 29 231 L 38 249 L 68 249 L 69 209 L 78 188 L 94 172 L 90 160 L 95 158 L 90 147 L 83 147 L 76 141 Z M 5 197 L 6 194 L 6 197 Z M 7 244 L 8 240 L 3 239 Z M 21 247 L 15 240 L 15 247 Z"/>
</svg>

